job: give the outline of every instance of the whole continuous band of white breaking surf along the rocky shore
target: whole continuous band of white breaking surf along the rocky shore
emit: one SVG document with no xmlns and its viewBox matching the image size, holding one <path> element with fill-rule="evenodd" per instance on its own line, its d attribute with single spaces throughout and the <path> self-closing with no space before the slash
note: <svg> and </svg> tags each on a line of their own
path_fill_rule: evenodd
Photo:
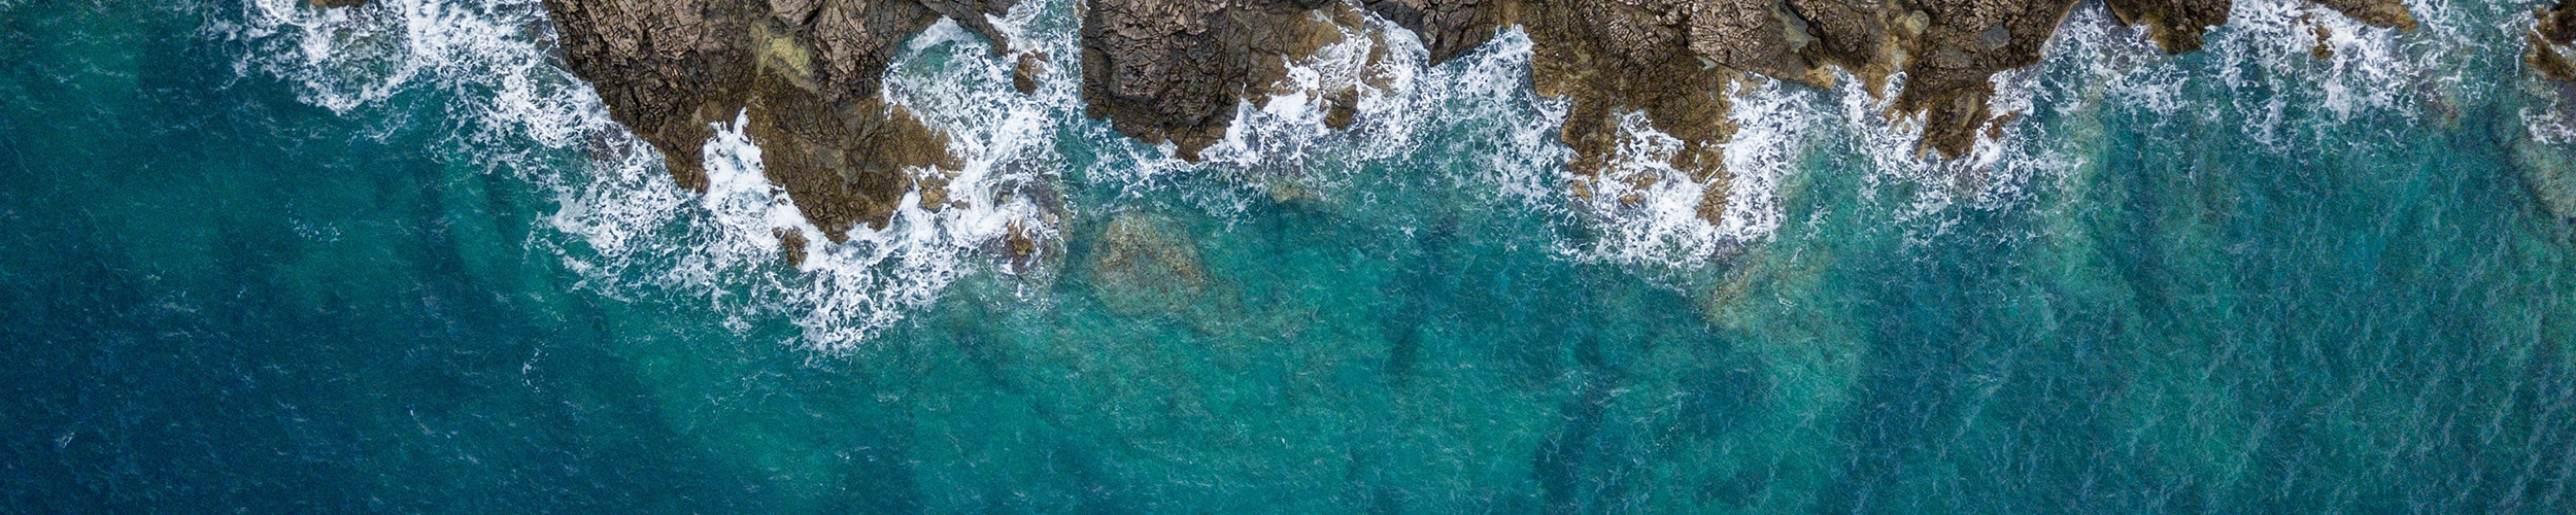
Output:
<svg viewBox="0 0 2576 515">
<path fill-rule="evenodd" d="M 2336 124 L 2380 113 L 2411 118 L 2424 106 L 2476 100 L 2481 90 L 2465 88 L 2455 72 L 2463 67 L 2450 59 L 2483 52 L 2488 41 L 2473 21 L 2509 5 L 2411 0 L 2409 8 L 2424 21 L 2416 33 L 2367 28 L 2300 0 L 2239 0 L 2202 54 L 2164 57 L 2136 28 L 2084 5 L 2043 64 L 1996 75 L 1991 106 L 2056 118 L 2102 106 L 2159 118 L 2233 116 L 2249 139 L 2290 152 Z M 1687 270 L 1770 239 L 1785 224 L 1780 185 L 1816 152 L 1862 157 L 1862 196 L 1899 191 L 1880 188 L 1893 180 L 1937 185 L 1901 188 L 1911 198 L 1896 201 L 1911 209 L 1896 216 L 1906 221 L 1960 206 L 2017 206 L 2035 180 L 2081 165 L 2087 131 L 2071 121 L 2020 118 L 1984 134 L 1971 154 L 1942 160 L 1917 149 L 1919 121 L 1883 116 L 1888 95 L 1857 80 L 1814 90 L 1754 77 L 1728 90 L 1736 131 L 1723 144 L 1723 183 L 1698 183 L 1664 165 L 1680 142 L 1631 113 L 1620 121 L 1615 167 L 1656 180 L 1636 191 L 1600 180 L 1607 191 L 1582 201 L 1566 188 L 1574 175 L 1561 162 L 1571 149 L 1556 136 L 1566 103 L 1528 88 L 1533 49 L 1525 33 L 1507 28 L 1430 67 L 1409 31 L 1363 15 L 1360 26 L 1342 26 L 1342 41 L 1291 62 L 1275 95 L 1244 100 L 1203 162 L 1185 162 L 1170 144 L 1136 144 L 1082 118 L 1074 10 L 1074 0 L 1043 0 L 992 18 L 1007 49 L 1043 54 L 1033 95 L 1010 88 L 1015 57 L 994 57 L 989 41 L 951 21 L 909 39 L 886 72 L 884 95 L 948 134 L 961 170 L 940 170 L 953 175 L 940 188 L 953 206 L 925 211 L 914 191 L 886 227 L 860 227 L 837 245 L 762 178 L 760 149 L 742 136 L 742 121 L 719 124 L 706 144 L 711 188 L 703 196 L 667 180 L 659 154 L 616 126 L 595 93 L 551 57 L 551 26 L 533 0 L 376 0 L 340 10 L 245 0 L 209 15 L 206 31 L 250 49 L 237 72 L 278 77 L 299 100 L 340 116 L 384 116 L 415 103 L 410 98 L 440 98 L 451 144 L 556 201 L 549 216 L 556 234 L 538 234 L 528 247 L 556 255 L 580 273 L 582 288 L 706 304 L 724 312 L 737 335 L 752 332 L 757 319 L 786 317 L 801 327 L 801 345 L 829 353 L 860 350 L 969 273 L 1043 276 L 1007 265 L 999 242 L 1012 234 L 1061 239 L 1059 227 L 1084 214 L 1064 206 L 1059 188 L 1077 188 L 1066 185 L 1066 173 L 1087 178 L 1079 188 L 1195 198 L 1224 214 L 1265 198 L 1275 180 L 1370 196 L 1345 188 L 1355 173 L 1437 170 L 1422 180 L 1481 188 L 1587 227 L 1592 237 L 1564 239 L 1556 250 L 1569 260 Z M 2318 28 L 2329 33 L 2329 59 L 2311 57 Z M 1891 82 L 1901 88 L 1904 77 Z M 2200 88 L 2226 95 L 2200 95 Z M 1352 100 L 1347 129 L 1327 126 L 1334 95 Z M 2187 98 L 2223 98 L 2215 103 L 2226 108 Z M 2282 126 L 2303 106 L 2329 121 Z M 1090 154 L 1069 157 L 1066 139 L 1090 144 Z M 567 167 L 564 154 L 587 160 Z M 1236 180 L 1206 180 L 1211 175 Z M 1698 201 L 1721 185 L 1726 211 L 1710 224 L 1698 216 Z M 1638 198 L 1633 206 L 1613 201 L 1628 193 Z M 1937 232 L 1935 224 L 1919 237 Z M 783 234 L 814 242 L 799 273 L 773 265 Z M 1038 252 L 1054 250 L 1038 245 Z"/>
</svg>

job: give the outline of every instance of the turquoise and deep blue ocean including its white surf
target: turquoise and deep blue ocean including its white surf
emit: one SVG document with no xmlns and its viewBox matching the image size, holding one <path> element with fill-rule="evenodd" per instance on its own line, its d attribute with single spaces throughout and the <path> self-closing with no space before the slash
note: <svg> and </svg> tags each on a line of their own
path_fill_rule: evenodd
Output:
<svg viewBox="0 0 2576 515">
<path fill-rule="evenodd" d="M 1623 206 L 1525 36 L 1373 21 L 1293 75 L 1350 131 L 1180 162 L 1030 0 L 1036 95 L 953 23 L 889 72 L 969 206 L 786 263 L 760 149 L 680 191 L 531 0 L 0 0 L 0 505 L 2568 512 L 2576 95 L 2530 0 L 2409 5 L 2164 57 L 2089 3 L 1960 160 L 1749 80 L 1734 180 L 1631 118 Z"/>
</svg>

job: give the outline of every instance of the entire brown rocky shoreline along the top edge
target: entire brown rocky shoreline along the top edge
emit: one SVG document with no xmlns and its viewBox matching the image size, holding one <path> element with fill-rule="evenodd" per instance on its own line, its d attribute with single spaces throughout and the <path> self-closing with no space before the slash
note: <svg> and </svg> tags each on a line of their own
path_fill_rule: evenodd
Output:
<svg viewBox="0 0 2576 515">
<path fill-rule="evenodd" d="M 363 0 L 312 0 L 353 5 Z M 2105 0 L 2164 52 L 2195 52 L 2226 23 L 2231 0 Z M 2398 0 L 2311 0 L 2354 21 L 2411 31 Z M 665 154 L 672 178 L 703 191 L 698 149 L 711 124 L 747 118 L 768 178 L 806 219 L 842 239 L 884 227 L 909 191 L 943 209 L 956 170 L 945 136 L 878 88 L 902 41 L 940 18 L 1007 54 L 987 15 L 1012 0 L 544 0 L 564 62 L 590 80 L 611 116 Z M 2012 113 L 1989 108 L 1991 77 L 2030 67 L 2076 0 L 1092 0 L 1082 13 L 1087 116 L 1180 157 L 1224 139 L 1239 100 L 1273 93 L 1293 59 L 1381 15 L 1414 31 L 1432 64 L 1520 26 L 1533 44 L 1530 85 L 1566 98 L 1558 136 L 1574 149 L 1566 188 L 1589 198 L 1620 144 L 1618 118 L 1643 113 L 1682 139 L 1672 167 L 1708 183 L 1698 214 L 1726 211 L 1721 144 L 1734 134 L 1726 88 L 1747 75 L 1832 88 L 1834 70 L 1883 93 L 1904 72 L 1893 113 L 1919 116 L 1919 152 L 1965 154 Z M 2535 41 L 2566 44 L 2553 18 Z M 2545 44 L 2543 44 L 2545 52 Z M 1020 54 L 1015 88 L 1033 90 L 1043 57 Z M 2543 62 L 2540 54 L 2532 62 Z M 2548 54 L 2550 64 L 2563 62 Z M 2563 72 L 2576 67 L 2543 67 Z M 1352 93 L 1321 93 L 1327 121 L 1347 126 Z M 1631 188 L 1643 188 L 1636 180 Z"/>
</svg>

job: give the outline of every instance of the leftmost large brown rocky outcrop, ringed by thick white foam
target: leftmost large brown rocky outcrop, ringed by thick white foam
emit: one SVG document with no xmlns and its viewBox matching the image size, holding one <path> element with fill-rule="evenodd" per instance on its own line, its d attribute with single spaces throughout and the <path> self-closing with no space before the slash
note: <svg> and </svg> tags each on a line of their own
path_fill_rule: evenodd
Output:
<svg viewBox="0 0 2576 515">
<path fill-rule="evenodd" d="M 840 239 L 920 188 L 938 209 L 945 139 L 881 100 L 902 41 L 940 15 L 992 36 L 1007 0 L 546 0 L 564 62 L 608 113 L 706 188 L 711 124 L 747 118 L 765 175 Z M 933 173 L 907 173 L 933 170 Z"/>
</svg>

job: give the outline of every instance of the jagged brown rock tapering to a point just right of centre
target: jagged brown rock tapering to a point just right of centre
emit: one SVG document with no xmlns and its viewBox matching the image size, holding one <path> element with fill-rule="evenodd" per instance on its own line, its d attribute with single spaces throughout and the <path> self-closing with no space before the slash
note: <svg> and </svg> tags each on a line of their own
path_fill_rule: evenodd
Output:
<svg viewBox="0 0 2576 515">
<path fill-rule="evenodd" d="M 1566 165 L 1577 183 L 1569 191 L 1589 198 L 1597 180 L 1610 180 L 1605 173 L 1620 144 L 1618 116 L 1643 111 L 1659 131 L 1682 139 L 1672 167 L 1708 183 L 1700 216 L 1716 221 L 1726 211 L 1718 144 L 1734 134 L 1726 118 L 1728 82 L 1741 72 L 1765 72 L 1826 85 L 1832 75 L 1821 75 L 1816 62 L 1883 62 L 1875 41 L 1850 39 L 1878 33 L 1875 18 L 1837 0 L 1806 3 L 1826 13 L 1829 26 L 1847 31 L 1819 44 L 1808 18 L 1772 0 L 1370 0 L 1368 10 L 1414 31 L 1432 62 L 1484 44 L 1502 26 L 1522 26 L 1533 46 L 1533 85 L 1540 95 L 1571 100 L 1558 131 L 1574 147 Z M 1654 178 L 1618 180 L 1646 188 Z"/>
</svg>

